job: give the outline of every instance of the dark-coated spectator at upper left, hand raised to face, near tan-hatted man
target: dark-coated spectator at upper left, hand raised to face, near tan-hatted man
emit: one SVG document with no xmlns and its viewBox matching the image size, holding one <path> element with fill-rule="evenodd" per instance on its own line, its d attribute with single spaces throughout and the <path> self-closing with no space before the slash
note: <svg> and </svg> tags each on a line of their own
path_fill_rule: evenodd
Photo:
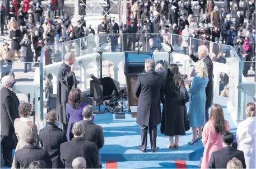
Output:
<svg viewBox="0 0 256 169">
<path fill-rule="evenodd" d="M 31 62 L 33 62 L 33 53 L 32 53 L 32 49 L 31 49 L 31 44 L 32 44 L 32 42 L 29 40 L 29 36 L 24 35 L 24 38 L 20 42 L 22 58 L 23 58 L 23 62 L 24 62 L 24 73 L 27 72 L 27 64 L 29 64 L 28 72 L 32 71 L 31 70 Z"/>
</svg>

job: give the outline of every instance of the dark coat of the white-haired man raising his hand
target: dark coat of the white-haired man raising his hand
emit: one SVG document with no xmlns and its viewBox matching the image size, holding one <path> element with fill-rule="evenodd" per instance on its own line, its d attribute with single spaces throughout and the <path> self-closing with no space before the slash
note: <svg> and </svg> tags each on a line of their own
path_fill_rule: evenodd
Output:
<svg viewBox="0 0 256 169">
<path fill-rule="evenodd" d="M 195 55 L 189 55 L 189 57 L 193 60 L 193 62 L 197 62 L 200 60 Z M 212 106 L 212 100 L 213 100 L 213 63 L 212 59 L 209 55 L 203 59 L 203 62 L 207 65 L 207 72 L 208 72 L 208 84 L 206 86 L 206 108 L 209 108 Z"/>
</svg>

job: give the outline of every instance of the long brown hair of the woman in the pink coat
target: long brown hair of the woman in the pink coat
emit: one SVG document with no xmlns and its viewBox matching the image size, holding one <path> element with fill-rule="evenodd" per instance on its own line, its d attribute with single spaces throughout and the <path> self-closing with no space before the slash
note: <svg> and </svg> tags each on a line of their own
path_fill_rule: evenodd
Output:
<svg viewBox="0 0 256 169">
<path fill-rule="evenodd" d="M 212 123 L 215 128 L 215 132 L 217 134 L 223 132 L 226 129 L 226 126 L 225 126 L 224 112 L 221 105 L 219 104 L 212 105 L 210 116 L 211 116 L 210 119 L 212 120 Z"/>
</svg>

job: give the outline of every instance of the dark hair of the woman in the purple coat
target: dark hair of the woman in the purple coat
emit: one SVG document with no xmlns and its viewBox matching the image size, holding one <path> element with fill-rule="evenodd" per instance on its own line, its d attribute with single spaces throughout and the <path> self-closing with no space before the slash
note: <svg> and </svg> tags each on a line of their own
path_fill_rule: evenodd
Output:
<svg viewBox="0 0 256 169">
<path fill-rule="evenodd" d="M 79 88 L 73 88 L 68 95 L 68 103 L 73 109 L 77 109 L 81 104 L 82 92 Z"/>
</svg>

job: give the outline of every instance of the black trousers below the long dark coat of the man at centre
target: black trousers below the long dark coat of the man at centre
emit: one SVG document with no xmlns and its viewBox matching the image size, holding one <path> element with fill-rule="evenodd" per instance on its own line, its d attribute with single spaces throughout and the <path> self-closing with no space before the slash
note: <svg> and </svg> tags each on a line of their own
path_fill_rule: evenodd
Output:
<svg viewBox="0 0 256 169">
<path fill-rule="evenodd" d="M 150 132 L 150 145 L 151 149 L 156 148 L 156 137 L 157 137 L 157 126 L 145 126 L 145 125 L 139 125 L 139 128 L 141 129 L 141 147 L 142 149 L 147 148 L 147 130 L 149 128 Z"/>
</svg>

